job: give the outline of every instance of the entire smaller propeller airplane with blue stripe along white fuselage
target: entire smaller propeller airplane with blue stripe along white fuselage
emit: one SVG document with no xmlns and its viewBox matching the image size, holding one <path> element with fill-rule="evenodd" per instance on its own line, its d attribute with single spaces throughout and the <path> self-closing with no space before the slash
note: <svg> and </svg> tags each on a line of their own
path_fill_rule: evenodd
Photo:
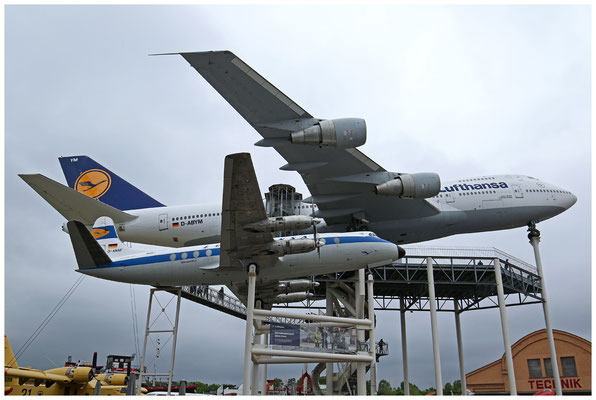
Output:
<svg viewBox="0 0 596 400">
<path fill-rule="evenodd" d="M 262 294 L 279 288 L 280 280 L 372 268 L 404 254 L 372 232 L 274 239 L 272 232 L 295 230 L 305 219 L 313 223 L 307 216 L 267 218 L 250 154 L 240 153 L 225 160 L 220 244 L 146 252 L 123 246 L 112 224 L 97 226 L 103 232 L 97 239 L 81 222 L 67 225 L 80 273 L 154 286 L 223 284 L 243 301 L 251 264 Z"/>
</svg>

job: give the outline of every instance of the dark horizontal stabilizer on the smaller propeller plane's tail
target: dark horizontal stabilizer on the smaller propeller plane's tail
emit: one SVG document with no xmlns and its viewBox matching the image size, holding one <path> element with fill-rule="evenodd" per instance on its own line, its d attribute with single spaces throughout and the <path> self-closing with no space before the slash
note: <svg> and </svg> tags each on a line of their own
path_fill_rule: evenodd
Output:
<svg viewBox="0 0 596 400">
<path fill-rule="evenodd" d="M 100 267 L 112 262 L 82 222 L 69 221 L 67 227 L 79 268 Z"/>
</svg>

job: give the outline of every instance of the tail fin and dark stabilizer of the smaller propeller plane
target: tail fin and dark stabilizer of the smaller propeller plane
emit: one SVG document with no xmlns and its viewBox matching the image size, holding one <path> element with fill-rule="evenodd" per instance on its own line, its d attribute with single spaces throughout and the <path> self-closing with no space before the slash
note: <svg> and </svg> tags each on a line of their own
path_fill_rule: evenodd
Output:
<svg viewBox="0 0 596 400">
<path fill-rule="evenodd" d="M 140 252 L 120 241 L 116 227 L 108 217 L 99 218 L 91 232 L 79 221 L 69 221 L 67 227 L 81 269 L 101 267 L 110 264 L 113 258 Z"/>
</svg>

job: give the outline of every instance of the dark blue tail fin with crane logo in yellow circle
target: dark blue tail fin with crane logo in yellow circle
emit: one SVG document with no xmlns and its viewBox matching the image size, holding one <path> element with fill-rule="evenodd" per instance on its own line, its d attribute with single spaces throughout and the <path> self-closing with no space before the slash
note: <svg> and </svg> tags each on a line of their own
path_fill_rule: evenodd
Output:
<svg viewBox="0 0 596 400">
<path fill-rule="evenodd" d="M 91 157 L 59 157 L 72 189 L 119 210 L 164 207 L 164 204 L 131 185 Z"/>
</svg>

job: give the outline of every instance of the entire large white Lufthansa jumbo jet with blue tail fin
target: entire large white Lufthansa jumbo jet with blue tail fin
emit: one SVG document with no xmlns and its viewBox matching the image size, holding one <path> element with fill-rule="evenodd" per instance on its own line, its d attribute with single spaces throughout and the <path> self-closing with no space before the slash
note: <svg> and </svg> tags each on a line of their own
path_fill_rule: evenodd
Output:
<svg viewBox="0 0 596 400">
<path fill-rule="evenodd" d="M 573 193 L 524 175 L 442 182 L 436 173 L 396 173 L 357 147 L 366 124 L 321 120 L 229 51 L 181 54 L 300 174 L 311 197 L 294 214 L 324 219 L 319 230 L 373 230 L 398 244 L 510 229 L 544 221 L 577 201 Z M 67 220 L 112 218 L 122 240 L 180 247 L 219 240 L 219 205 L 164 206 L 87 156 L 61 157 L 69 186 L 21 177 Z M 97 199 L 99 201 L 90 201 Z M 312 206 L 312 207 L 311 207 Z"/>
</svg>

